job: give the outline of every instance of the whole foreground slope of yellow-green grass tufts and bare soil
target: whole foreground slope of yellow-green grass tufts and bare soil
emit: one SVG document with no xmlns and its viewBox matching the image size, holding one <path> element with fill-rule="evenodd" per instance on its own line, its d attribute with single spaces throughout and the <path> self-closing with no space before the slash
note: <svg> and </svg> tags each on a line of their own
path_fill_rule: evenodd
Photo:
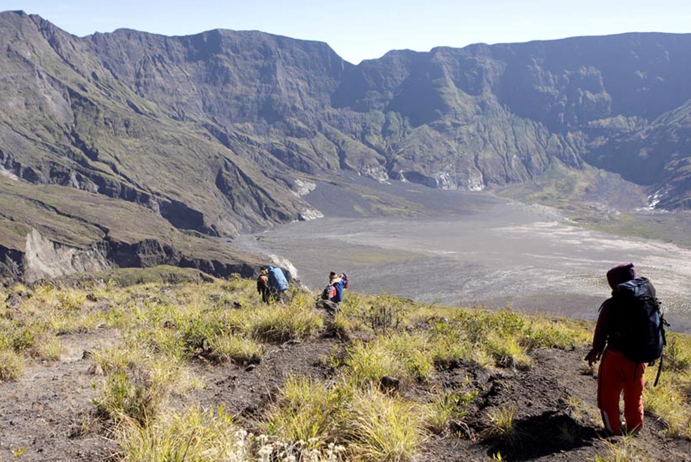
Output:
<svg viewBox="0 0 691 462">
<path fill-rule="evenodd" d="M 152 269 L 139 278 L 149 282 L 117 282 L 132 272 L 2 289 L 0 460 L 677 461 L 691 450 L 686 336 L 670 336 L 661 385 L 646 389 L 643 432 L 607 440 L 582 360 L 589 323 L 357 293 L 330 316 L 312 293 L 267 306 L 252 280 L 162 268 L 176 283 L 152 282 Z"/>
</svg>

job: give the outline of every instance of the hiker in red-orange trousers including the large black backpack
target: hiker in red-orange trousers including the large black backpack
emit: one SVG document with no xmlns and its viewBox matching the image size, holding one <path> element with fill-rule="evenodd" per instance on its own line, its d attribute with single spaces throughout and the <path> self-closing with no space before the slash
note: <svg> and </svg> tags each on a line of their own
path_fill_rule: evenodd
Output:
<svg viewBox="0 0 691 462">
<path fill-rule="evenodd" d="M 601 359 L 598 407 L 607 432 L 620 435 L 643 428 L 645 367 L 658 358 L 662 362 L 664 325 L 668 324 L 655 298 L 655 287 L 647 278 L 638 278 L 633 263 L 618 264 L 609 269 L 607 282 L 612 287 L 612 297 L 600 306 L 593 347 L 585 360 L 592 367 Z M 659 367 L 660 371 L 662 364 Z M 619 415 L 622 392 L 626 421 L 624 432 Z"/>
</svg>

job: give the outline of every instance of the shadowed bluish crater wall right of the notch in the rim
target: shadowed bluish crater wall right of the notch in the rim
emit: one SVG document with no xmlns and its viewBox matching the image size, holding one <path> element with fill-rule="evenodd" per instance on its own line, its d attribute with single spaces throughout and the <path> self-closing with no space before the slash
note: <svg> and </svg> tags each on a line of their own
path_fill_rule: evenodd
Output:
<svg viewBox="0 0 691 462">
<path fill-rule="evenodd" d="M 618 146 L 646 144 L 655 120 L 691 97 L 690 46 L 689 35 L 624 34 L 393 51 L 348 69 L 332 103 L 379 114 L 352 134 L 388 153 L 393 175 L 432 186 L 523 182 L 553 157 L 659 184 L 668 151 L 641 177 Z"/>
</svg>

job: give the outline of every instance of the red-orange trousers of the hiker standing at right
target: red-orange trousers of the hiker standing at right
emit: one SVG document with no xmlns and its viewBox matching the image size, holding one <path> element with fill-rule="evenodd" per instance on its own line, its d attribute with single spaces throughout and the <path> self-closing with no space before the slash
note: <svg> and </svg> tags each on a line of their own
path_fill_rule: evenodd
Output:
<svg viewBox="0 0 691 462">
<path fill-rule="evenodd" d="M 628 432 L 643 428 L 643 386 L 646 365 L 605 349 L 598 372 L 598 407 L 607 432 L 621 434 L 619 397 L 624 392 L 624 418 Z"/>
</svg>

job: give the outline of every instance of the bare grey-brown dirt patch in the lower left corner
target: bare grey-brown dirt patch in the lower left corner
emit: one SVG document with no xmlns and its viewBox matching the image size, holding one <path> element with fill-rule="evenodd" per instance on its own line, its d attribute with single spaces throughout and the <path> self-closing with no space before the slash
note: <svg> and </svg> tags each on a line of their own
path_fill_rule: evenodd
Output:
<svg viewBox="0 0 691 462">
<path fill-rule="evenodd" d="M 113 345 L 116 331 L 61 337 L 65 352 L 55 363 L 30 363 L 17 382 L 0 385 L 0 460 L 96 461 L 115 446 L 93 425 L 95 376 L 84 350 Z"/>
</svg>

